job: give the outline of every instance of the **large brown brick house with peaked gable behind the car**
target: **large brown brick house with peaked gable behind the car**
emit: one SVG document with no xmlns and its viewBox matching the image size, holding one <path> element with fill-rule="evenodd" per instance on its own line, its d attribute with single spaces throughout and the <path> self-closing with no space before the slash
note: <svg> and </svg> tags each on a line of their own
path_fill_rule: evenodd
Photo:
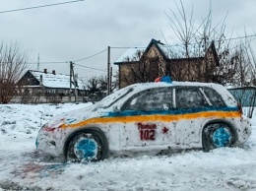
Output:
<svg viewBox="0 0 256 191">
<path fill-rule="evenodd" d="M 181 47 L 168 46 L 156 39 L 145 48 L 129 48 L 114 63 L 119 67 L 119 88 L 141 81 L 136 75 L 143 73 L 138 65 L 145 58 L 150 68 L 144 71 L 148 73 L 147 82 L 160 76 L 170 76 L 174 81 L 217 82 L 215 71 L 220 63 L 214 42 L 200 56 L 195 52 L 195 56 L 188 57 L 183 52 Z"/>
</svg>

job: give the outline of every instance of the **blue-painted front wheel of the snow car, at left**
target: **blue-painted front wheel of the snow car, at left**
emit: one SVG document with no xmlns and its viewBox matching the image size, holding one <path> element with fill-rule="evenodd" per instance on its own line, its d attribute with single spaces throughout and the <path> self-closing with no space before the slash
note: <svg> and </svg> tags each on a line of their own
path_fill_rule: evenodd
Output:
<svg viewBox="0 0 256 191">
<path fill-rule="evenodd" d="M 107 158 L 107 141 L 104 135 L 94 130 L 87 130 L 73 136 L 67 147 L 67 160 L 97 161 Z"/>
</svg>

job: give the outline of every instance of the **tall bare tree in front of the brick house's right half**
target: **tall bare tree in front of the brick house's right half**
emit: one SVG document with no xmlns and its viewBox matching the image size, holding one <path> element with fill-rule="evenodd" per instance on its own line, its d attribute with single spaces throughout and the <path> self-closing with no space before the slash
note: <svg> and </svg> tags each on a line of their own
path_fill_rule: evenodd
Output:
<svg viewBox="0 0 256 191">
<path fill-rule="evenodd" d="M 226 59 L 229 58 L 229 48 L 230 41 L 226 40 L 225 37 L 225 18 L 220 21 L 217 25 L 213 25 L 212 18 L 212 5 L 210 2 L 210 7 L 208 14 L 203 18 L 202 22 L 196 25 L 193 8 L 189 17 L 186 14 L 182 0 L 176 5 L 176 10 L 170 9 L 170 14 L 167 14 L 167 17 L 170 21 L 171 30 L 174 32 L 176 37 L 176 42 L 182 44 L 178 48 L 178 54 L 174 55 L 176 57 L 185 57 L 187 58 L 187 67 L 182 67 L 183 70 L 186 70 L 183 73 L 189 77 L 192 81 L 203 81 L 203 82 L 219 82 L 222 83 L 223 78 L 225 77 L 222 72 L 223 70 L 218 70 L 218 67 L 224 68 Z M 213 58 L 208 56 L 209 47 L 214 43 L 214 48 L 219 56 L 219 66 L 213 64 Z M 201 59 L 190 59 L 190 58 L 204 58 L 204 62 Z M 174 65 L 175 66 L 175 65 Z M 179 76 L 181 69 L 174 70 L 174 74 Z M 193 73 L 192 71 L 197 71 Z M 214 74 L 214 75 L 213 75 Z M 198 78 L 200 77 L 200 79 Z M 223 78 L 220 78 L 223 77 Z M 178 79 L 177 79 L 178 80 Z"/>
</svg>

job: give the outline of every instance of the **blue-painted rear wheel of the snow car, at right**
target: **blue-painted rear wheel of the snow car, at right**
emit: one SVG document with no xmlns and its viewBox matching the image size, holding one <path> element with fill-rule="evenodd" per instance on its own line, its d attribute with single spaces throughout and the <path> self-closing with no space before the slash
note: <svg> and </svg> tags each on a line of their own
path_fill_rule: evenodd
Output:
<svg viewBox="0 0 256 191">
<path fill-rule="evenodd" d="M 215 148 L 231 147 L 234 143 L 232 129 L 224 123 L 207 125 L 203 131 L 203 148 L 209 151 Z"/>
</svg>

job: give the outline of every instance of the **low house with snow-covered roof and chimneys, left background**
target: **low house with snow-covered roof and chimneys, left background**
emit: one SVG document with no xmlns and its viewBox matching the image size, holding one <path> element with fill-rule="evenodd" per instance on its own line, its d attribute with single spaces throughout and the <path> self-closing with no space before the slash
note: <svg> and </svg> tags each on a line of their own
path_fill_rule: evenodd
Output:
<svg viewBox="0 0 256 191">
<path fill-rule="evenodd" d="M 29 70 L 19 80 L 18 85 L 21 95 L 30 95 L 37 99 L 42 99 L 42 97 L 62 99 L 64 96 L 70 95 L 70 76 L 56 74 L 55 70 L 51 73 L 48 73 L 47 69 L 44 69 L 43 72 Z M 86 85 L 80 79 L 77 79 L 76 83 L 71 82 L 72 96 L 74 96 L 75 86 L 78 96 L 87 96 Z"/>
</svg>

